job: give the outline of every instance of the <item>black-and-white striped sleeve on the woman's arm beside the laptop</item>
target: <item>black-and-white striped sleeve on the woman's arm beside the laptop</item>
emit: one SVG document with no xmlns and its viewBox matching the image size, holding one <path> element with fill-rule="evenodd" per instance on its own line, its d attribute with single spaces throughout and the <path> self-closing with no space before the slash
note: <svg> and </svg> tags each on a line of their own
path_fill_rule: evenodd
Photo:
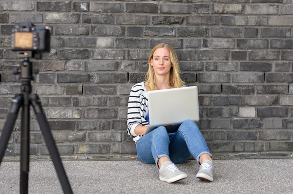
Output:
<svg viewBox="0 0 293 194">
<path fill-rule="evenodd" d="M 137 136 L 134 132 L 134 129 L 137 125 L 142 124 L 141 117 L 141 102 L 140 102 L 140 93 L 144 91 L 142 86 L 134 85 L 131 88 L 129 100 L 128 100 L 128 109 L 127 109 L 127 133 L 130 136 Z"/>
</svg>

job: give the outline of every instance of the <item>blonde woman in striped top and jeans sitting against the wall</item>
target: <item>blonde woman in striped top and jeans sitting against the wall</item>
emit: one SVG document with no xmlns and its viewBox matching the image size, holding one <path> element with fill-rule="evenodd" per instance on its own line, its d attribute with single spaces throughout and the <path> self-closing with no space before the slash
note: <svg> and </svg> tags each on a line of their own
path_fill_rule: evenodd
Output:
<svg viewBox="0 0 293 194">
<path fill-rule="evenodd" d="M 147 133 L 149 126 L 147 91 L 183 86 L 174 49 L 165 43 L 156 45 L 148 58 L 146 82 L 131 88 L 128 101 L 127 132 L 135 137 L 138 158 L 156 164 L 160 180 L 167 183 L 187 178 L 174 163 L 183 163 L 192 155 L 200 165 L 196 176 L 213 181 L 213 165 L 207 143 L 192 120 L 182 123 L 176 133 L 167 133 L 161 126 Z"/>
</svg>

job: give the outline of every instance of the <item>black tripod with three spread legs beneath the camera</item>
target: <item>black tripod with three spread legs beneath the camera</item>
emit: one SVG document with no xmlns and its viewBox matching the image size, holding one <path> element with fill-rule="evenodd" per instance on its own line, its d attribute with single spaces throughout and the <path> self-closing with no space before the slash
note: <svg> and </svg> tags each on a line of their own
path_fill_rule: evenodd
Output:
<svg viewBox="0 0 293 194">
<path fill-rule="evenodd" d="M 16 69 L 14 74 L 20 74 L 21 80 L 21 94 L 17 94 L 12 100 L 12 106 L 7 116 L 4 129 L 0 138 L 0 165 L 11 136 L 13 127 L 15 125 L 18 112 L 21 108 L 21 181 L 20 181 L 20 193 L 28 193 L 28 173 L 29 173 L 29 125 L 30 125 L 30 106 L 33 107 L 35 115 L 37 117 L 42 135 L 47 145 L 48 151 L 54 163 L 55 170 L 59 177 L 63 193 L 73 194 L 70 187 L 69 180 L 66 176 L 66 172 L 63 168 L 57 146 L 55 144 L 53 135 L 51 133 L 48 121 L 41 106 L 41 100 L 37 94 L 31 94 L 32 86 L 32 63 L 25 58 L 21 61 L 21 68 Z"/>
</svg>

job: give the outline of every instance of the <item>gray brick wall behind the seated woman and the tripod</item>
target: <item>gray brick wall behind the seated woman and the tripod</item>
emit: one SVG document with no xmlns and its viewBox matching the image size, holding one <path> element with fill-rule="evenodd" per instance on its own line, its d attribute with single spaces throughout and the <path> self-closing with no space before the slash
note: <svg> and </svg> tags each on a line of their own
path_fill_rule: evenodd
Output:
<svg viewBox="0 0 293 194">
<path fill-rule="evenodd" d="M 199 87 L 214 157 L 292 156 L 293 0 L 0 0 L 0 130 L 20 92 L 10 31 L 23 21 L 51 28 L 51 52 L 32 60 L 33 87 L 64 158 L 135 155 L 128 94 L 161 42 Z M 6 156 L 19 153 L 20 120 Z M 48 154 L 36 120 L 31 154 Z"/>
</svg>

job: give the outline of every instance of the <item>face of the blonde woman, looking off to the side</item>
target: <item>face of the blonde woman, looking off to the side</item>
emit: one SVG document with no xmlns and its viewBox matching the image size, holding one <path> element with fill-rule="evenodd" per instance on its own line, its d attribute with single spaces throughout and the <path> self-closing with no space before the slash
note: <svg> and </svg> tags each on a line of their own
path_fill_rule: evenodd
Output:
<svg viewBox="0 0 293 194">
<path fill-rule="evenodd" d="M 155 75 L 167 75 L 170 73 L 171 59 L 167 48 L 158 48 L 155 50 L 150 65 L 153 66 Z"/>
</svg>

